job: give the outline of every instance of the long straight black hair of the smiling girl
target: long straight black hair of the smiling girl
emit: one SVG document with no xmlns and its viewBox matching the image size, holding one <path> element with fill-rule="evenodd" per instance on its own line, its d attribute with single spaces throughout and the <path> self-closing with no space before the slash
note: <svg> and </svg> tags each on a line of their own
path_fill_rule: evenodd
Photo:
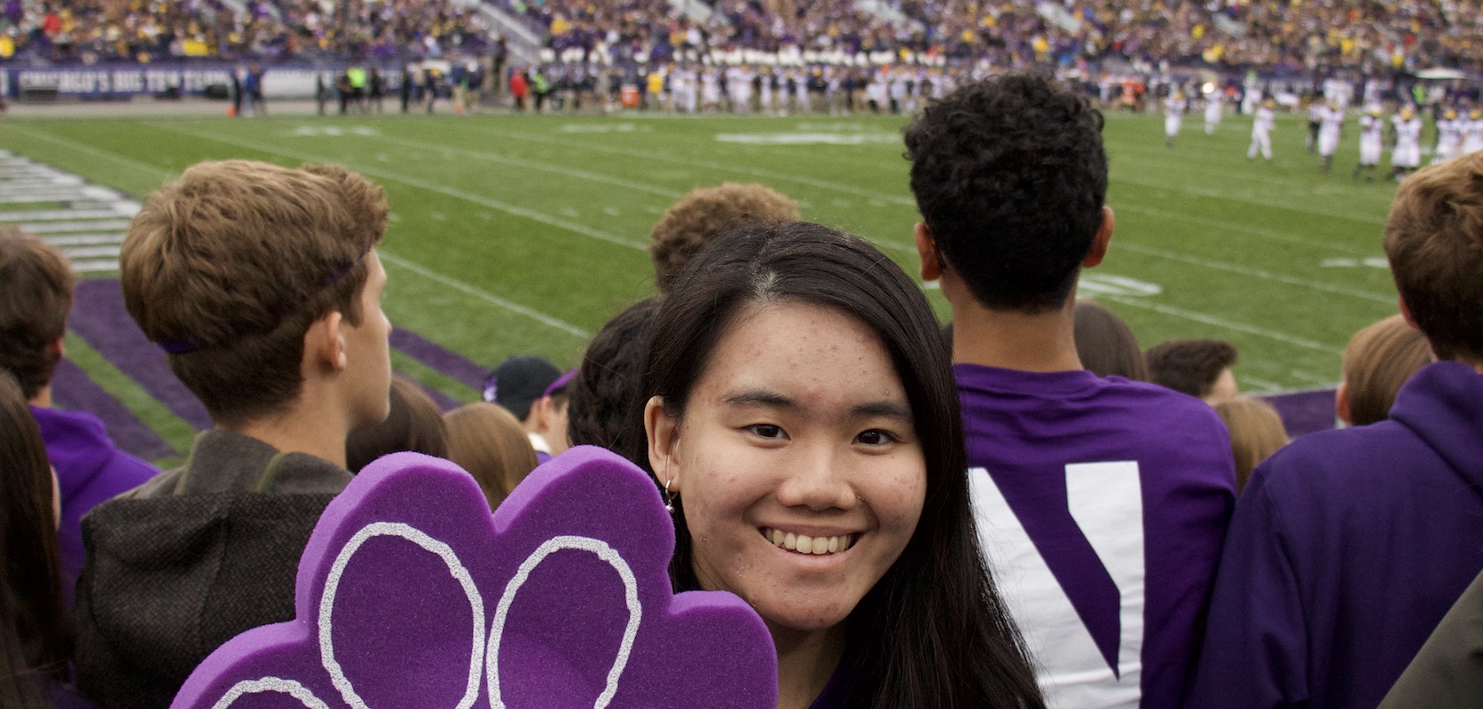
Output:
<svg viewBox="0 0 1483 709">
<path fill-rule="evenodd" d="M 654 322 L 644 399 L 682 418 L 690 392 L 733 319 L 752 303 L 836 309 L 884 343 L 911 402 L 927 495 L 906 549 L 847 619 L 848 706 L 1040 708 L 1028 654 L 979 552 L 958 393 L 921 289 L 869 243 L 807 222 L 750 224 L 707 245 Z M 641 400 L 642 403 L 642 400 Z M 630 460 L 650 467 L 645 436 Z M 684 500 L 675 509 L 678 590 L 698 589 Z"/>
</svg>

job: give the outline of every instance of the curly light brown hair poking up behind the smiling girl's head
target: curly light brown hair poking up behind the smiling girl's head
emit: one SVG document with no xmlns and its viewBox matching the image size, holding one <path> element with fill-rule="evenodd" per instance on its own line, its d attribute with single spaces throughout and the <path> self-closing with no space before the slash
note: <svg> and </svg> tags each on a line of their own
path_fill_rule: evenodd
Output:
<svg viewBox="0 0 1483 709">
<path fill-rule="evenodd" d="M 707 240 L 749 221 L 798 221 L 798 202 L 759 184 L 722 182 L 721 187 L 690 190 L 654 225 L 650 260 L 658 291 L 669 291 Z"/>
</svg>

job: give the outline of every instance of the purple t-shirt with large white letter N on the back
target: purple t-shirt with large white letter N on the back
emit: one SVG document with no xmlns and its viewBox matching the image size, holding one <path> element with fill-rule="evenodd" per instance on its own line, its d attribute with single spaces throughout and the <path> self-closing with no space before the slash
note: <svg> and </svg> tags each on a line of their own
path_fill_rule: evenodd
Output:
<svg viewBox="0 0 1483 709">
<path fill-rule="evenodd" d="M 1235 503 L 1225 424 L 1121 377 L 954 374 L 979 537 L 1047 706 L 1178 708 Z"/>
</svg>

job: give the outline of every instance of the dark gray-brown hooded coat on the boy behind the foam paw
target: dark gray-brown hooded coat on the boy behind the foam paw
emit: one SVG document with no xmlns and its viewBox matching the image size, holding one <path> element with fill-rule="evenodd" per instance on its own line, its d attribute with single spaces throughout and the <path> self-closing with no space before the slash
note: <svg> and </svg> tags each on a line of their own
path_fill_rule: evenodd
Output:
<svg viewBox="0 0 1483 709">
<path fill-rule="evenodd" d="M 166 708 L 237 633 L 294 617 L 308 535 L 350 473 L 208 430 L 179 469 L 83 519 L 77 687 L 105 708 Z"/>
</svg>

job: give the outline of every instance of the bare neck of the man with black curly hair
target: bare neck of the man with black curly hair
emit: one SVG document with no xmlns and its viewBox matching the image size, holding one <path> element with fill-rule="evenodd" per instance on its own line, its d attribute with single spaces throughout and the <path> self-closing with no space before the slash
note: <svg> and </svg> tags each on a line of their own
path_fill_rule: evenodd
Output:
<svg viewBox="0 0 1483 709">
<path fill-rule="evenodd" d="M 1083 369 L 1075 310 L 1026 314 L 991 310 L 977 301 L 954 303 L 952 360 L 1025 372 Z"/>
</svg>

